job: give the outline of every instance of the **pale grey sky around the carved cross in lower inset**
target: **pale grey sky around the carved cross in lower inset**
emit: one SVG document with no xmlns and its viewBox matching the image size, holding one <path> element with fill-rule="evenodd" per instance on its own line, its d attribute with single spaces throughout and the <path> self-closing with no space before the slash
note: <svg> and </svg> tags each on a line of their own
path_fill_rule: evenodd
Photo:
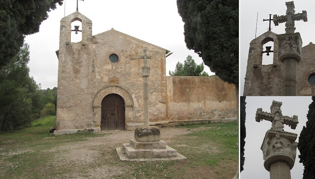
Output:
<svg viewBox="0 0 315 179">
<path fill-rule="evenodd" d="M 284 131 L 298 134 L 298 138 L 303 126 L 306 126 L 306 115 L 309 105 L 312 103 L 311 96 L 246 96 L 246 138 L 245 138 L 245 163 L 241 172 L 241 179 L 269 179 L 270 174 L 264 167 L 262 151 L 260 149 L 265 134 L 271 127 L 271 122 L 262 120 L 255 121 L 257 108 L 270 113 L 272 101 L 282 102 L 281 110 L 284 116 L 298 116 L 299 123 L 295 130 L 288 125 L 284 125 Z M 296 140 L 298 142 L 298 139 Z M 291 170 L 292 179 L 302 179 L 304 166 L 299 163 L 300 151 L 297 149 L 295 164 Z"/>
</svg>

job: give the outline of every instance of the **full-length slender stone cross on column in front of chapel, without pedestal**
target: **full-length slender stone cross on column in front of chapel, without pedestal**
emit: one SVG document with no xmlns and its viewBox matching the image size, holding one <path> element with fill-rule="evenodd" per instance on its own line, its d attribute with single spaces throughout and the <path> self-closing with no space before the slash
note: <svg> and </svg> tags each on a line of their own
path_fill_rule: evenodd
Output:
<svg viewBox="0 0 315 179">
<path fill-rule="evenodd" d="M 141 68 L 141 75 L 143 77 L 143 120 L 144 126 L 149 126 L 149 75 L 150 67 L 147 66 L 147 59 L 152 59 L 152 56 L 147 56 L 147 49 L 143 50 L 143 56 L 138 56 L 139 59 L 143 59 L 143 66 Z"/>
</svg>

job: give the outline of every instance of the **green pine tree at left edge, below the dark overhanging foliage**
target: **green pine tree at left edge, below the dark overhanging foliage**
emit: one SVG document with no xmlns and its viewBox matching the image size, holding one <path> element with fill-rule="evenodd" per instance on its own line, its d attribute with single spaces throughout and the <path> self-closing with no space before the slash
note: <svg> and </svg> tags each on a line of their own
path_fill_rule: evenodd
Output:
<svg viewBox="0 0 315 179">
<path fill-rule="evenodd" d="M 29 76 L 29 45 L 0 69 L 0 130 L 28 126 L 32 121 L 32 97 L 38 86 Z"/>
</svg>

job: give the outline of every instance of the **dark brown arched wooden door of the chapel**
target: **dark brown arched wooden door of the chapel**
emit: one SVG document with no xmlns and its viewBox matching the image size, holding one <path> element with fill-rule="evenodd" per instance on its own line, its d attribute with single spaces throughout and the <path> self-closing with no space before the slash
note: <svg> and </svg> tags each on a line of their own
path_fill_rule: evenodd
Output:
<svg viewBox="0 0 315 179">
<path fill-rule="evenodd" d="M 108 94 L 102 100 L 101 130 L 125 130 L 125 101 L 118 94 Z"/>
</svg>

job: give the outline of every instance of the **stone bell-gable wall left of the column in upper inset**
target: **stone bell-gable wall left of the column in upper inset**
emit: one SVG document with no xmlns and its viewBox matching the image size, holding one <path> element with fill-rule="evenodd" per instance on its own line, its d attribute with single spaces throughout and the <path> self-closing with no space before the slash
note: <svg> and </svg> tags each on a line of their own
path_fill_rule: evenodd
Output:
<svg viewBox="0 0 315 179">
<path fill-rule="evenodd" d="M 282 62 L 278 60 L 278 39 L 276 33 L 267 31 L 250 44 L 247 71 L 244 85 L 244 96 L 269 96 L 282 94 Z M 274 42 L 273 64 L 262 65 L 263 45 Z M 266 54 L 263 54 L 266 55 Z"/>
</svg>

